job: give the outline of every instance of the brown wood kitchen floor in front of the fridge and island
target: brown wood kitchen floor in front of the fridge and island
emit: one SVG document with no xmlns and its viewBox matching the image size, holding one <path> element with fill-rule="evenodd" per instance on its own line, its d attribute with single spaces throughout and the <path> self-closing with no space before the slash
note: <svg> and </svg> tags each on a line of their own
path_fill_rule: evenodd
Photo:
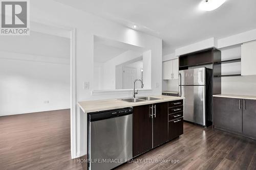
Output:
<svg viewBox="0 0 256 170">
<path fill-rule="evenodd" d="M 136 159 L 117 169 L 256 169 L 256 140 L 184 123 L 180 138 Z"/>
</svg>

